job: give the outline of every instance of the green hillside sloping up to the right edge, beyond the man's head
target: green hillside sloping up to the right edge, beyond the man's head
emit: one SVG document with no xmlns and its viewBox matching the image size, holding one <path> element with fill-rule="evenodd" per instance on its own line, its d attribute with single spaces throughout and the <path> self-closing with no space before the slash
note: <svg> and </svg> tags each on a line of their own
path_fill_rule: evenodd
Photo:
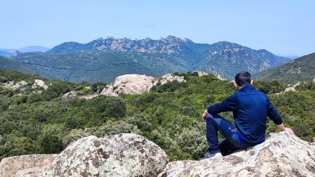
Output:
<svg viewBox="0 0 315 177">
<path fill-rule="evenodd" d="M 257 80 L 279 80 L 288 84 L 315 78 L 315 53 L 296 58 L 289 63 L 253 75 Z"/>
</svg>

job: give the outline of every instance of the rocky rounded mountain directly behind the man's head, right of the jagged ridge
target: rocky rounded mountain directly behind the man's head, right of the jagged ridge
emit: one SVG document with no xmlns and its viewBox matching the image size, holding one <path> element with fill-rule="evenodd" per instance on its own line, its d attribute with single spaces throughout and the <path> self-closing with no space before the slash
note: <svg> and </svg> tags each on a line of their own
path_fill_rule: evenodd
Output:
<svg viewBox="0 0 315 177">
<path fill-rule="evenodd" d="M 290 61 L 266 50 L 253 50 L 239 44 L 221 41 L 207 47 L 208 56 L 195 65 L 198 70 L 232 79 L 239 71 L 256 73 Z"/>
</svg>

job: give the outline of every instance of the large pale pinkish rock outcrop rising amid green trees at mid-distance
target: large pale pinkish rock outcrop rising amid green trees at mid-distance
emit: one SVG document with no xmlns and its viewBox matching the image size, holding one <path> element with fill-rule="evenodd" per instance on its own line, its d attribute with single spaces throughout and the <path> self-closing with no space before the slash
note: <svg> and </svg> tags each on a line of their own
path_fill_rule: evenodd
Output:
<svg viewBox="0 0 315 177">
<path fill-rule="evenodd" d="M 107 88 L 101 92 L 101 95 L 117 97 L 119 93 L 142 94 L 151 91 L 151 88 L 156 85 L 158 81 L 163 85 L 173 80 L 186 82 L 183 76 L 180 77 L 172 74 L 163 75 L 160 79 L 137 74 L 121 75 L 115 78 L 113 84 L 107 85 Z"/>
</svg>

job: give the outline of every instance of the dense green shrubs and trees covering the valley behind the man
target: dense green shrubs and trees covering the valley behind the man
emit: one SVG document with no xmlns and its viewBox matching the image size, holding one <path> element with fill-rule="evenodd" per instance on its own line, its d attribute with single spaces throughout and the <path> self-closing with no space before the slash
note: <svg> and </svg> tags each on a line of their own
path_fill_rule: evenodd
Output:
<svg viewBox="0 0 315 177">
<path fill-rule="evenodd" d="M 59 153 L 72 141 L 95 135 L 138 133 L 155 142 L 170 161 L 199 159 L 207 151 L 206 125 L 201 114 L 209 105 L 221 102 L 236 91 L 230 81 L 214 75 L 175 73 L 187 82 L 169 82 L 155 86 L 142 95 L 99 96 L 86 100 L 63 100 L 68 91 L 93 93 L 103 83 L 72 83 L 49 80 L 37 75 L 0 69 L 0 82 L 25 80 L 27 85 L 12 90 L 0 86 L 0 159 L 35 153 Z M 35 79 L 52 83 L 47 90 L 33 93 Z M 303 140 L 315 136 L 315 83 L 297 87 L 298 92 L 284 91 L 278 81 L 255 81 L 268 94 L 284 124 Z M 91 87 L 88 89 L 86 87 Z M 232 113 L 222 113 L 233 122 Z M 266 135 L 279 131 L 268 119 Z M 222 138 L 222 136 L 221 136 Z"/>
</svg>

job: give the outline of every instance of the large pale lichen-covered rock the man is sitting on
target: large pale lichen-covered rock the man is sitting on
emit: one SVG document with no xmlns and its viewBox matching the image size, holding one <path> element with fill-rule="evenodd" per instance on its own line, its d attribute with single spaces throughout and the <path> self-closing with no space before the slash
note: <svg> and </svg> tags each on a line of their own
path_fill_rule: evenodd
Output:
<svg viewBox="0 0 315 177">
<path fill-rule="evenodd" d="M 265 142 L 221 158 L 199 161 L 171 171 L 167 177 L 315 176 L 315 143 L 287 132 L 272 133 Z"/>
</svg>

